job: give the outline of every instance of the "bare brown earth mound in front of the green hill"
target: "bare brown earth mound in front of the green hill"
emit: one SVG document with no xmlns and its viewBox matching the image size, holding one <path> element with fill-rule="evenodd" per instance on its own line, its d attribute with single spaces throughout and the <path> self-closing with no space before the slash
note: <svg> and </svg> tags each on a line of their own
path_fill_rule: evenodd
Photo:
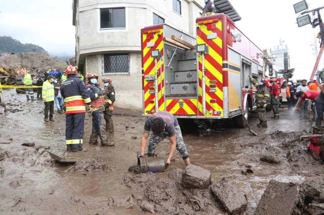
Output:
<svg viewBox="0 0 324 215">
<path fill-rule="evenodd" d="M 58 58 L 50 58 L 45 53 L 28 52 L 28 53 L 18 53 L 6 56 L 0 56 L 0 64 L 5 67 L 14 67 L 18 65 L 20 67 L 25 67 L 29 69 L 45 70 L 55 68 L 60 70 L 65 70 L 68 66 L 65 62 Z"/>
</svg>

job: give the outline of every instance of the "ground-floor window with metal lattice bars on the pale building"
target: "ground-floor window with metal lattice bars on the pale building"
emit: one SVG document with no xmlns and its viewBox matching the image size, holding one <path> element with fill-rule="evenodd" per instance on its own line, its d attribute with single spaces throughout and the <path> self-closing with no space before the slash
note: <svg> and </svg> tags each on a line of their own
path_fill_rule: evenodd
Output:
<svg viewBox="0 0 324 215">
<path fill-rule="evenodd" d="M 102 74 L 103 75 L 129 75 L 130 74 L 129 54 L 103 54 Z"/>
</svg>

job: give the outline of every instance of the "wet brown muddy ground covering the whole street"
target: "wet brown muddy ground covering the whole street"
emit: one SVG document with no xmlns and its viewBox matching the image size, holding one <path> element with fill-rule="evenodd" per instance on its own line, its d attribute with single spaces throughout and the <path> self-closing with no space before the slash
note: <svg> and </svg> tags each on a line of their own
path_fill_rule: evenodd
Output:
<svg viewBox="0 0 324 215">
<path fill-rule="evenodd" d="M 88 151 L 77 156 L 88 160 L 72 166 L 55 162 L 47 152 L 66 148 L 64 114 L 55 113 L 55 122 L 44 123 L 41 100 L 27 102 L 15 89 L 4 93 L 10 111 L 4 113 L 0 107 L 0 214 L 226 214 L 209 189 L 183 187 L 180 178 L 185 165 L 177 153 L 164 173 L 128 172 L 137 163 L 145 122 L 141 113 L 114 110 L 115 133 L 109 135 L 114 147 L 88 145 L 91 117 L 86 115 Z M 254 213 L 271 179 L 312 181 L 320 191 L 313 203 L 324 202 L 323 165 L 306 153 L 309 142 L 284 146 L 310 132 L 311 125 L 288 110 L 281 111 L 279 120 L 271 116 L 268 112 L 268 128 L 258 128 L 256 114 L 250 115 L 251 129 L 258 136 L 223 122 L 197 127 L 183 121 L 181 126 L 191 163 L 210 170 L 212 180 L 225 177 L 244 193 L 248 201 L 244 214 Z M 168 150 L 165 139 L 156 154 L 166 160 Z M 260 161 L 265 155 L 280 163 Z M 245 169 L 253 173 L 243 174 Z"/>
</svg>

